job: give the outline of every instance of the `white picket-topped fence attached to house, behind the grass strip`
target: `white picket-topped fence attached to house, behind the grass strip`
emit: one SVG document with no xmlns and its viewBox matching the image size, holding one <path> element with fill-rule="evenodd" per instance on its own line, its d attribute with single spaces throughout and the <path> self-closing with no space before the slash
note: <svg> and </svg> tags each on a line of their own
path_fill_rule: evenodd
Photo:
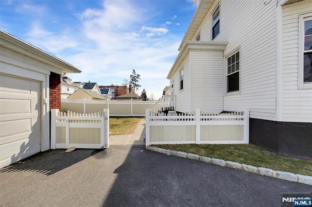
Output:
<svg viewBox="0 0 312 207">
<path fill-rule="evenodd" d="M 151 144 L 249 143 L 249 110 L 230 114 L 201 112 L 151 116 L 146 109 L 146 146 Z"/>
</svg>

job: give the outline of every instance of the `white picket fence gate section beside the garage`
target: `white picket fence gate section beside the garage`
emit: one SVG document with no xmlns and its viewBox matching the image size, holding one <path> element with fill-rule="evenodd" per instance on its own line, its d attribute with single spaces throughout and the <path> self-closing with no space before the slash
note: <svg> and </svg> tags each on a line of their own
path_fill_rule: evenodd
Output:
<svg viewBox="0 0 312 207">
<path fill-rule="evenodd" d="M 51 149 L 109 147 L 109 109 L 81 114 L 51 110 Z"/>
</svg>

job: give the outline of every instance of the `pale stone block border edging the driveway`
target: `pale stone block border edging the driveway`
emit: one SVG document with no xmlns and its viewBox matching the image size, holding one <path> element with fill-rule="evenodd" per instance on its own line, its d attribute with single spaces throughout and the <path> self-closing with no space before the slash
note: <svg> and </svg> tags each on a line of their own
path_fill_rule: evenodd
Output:
<svg viewBox="0 0 312 207">
<path fill-rule="evenodd" d="M 264 175 L 268 177 L 274 177 L 274 178 L 278 178 L 282 180 L 288 180 L 288 181 L 303 183 L 303 184 L 312 186 L 312 176 L 308 176 L 308 175 L 294 174 L 294 173 L 288 173 L 288 172 L 283 172 L 283 171 L 274 171 L 268 168 L 254 167 L 251 165 L 240 164 L 238 162 L 225 161 L 223 159 L 200 156 L 200 155 L 195 155 L 192 153 L 178 152 L 175 150 L 166 150 L 166 149 L 157 148 L 153 146 L 146 146 L 146 149 L 154 151 L 154 152 L 166 154 L 166 155 L 174 155 L 178 157 L 194 159 L 194 160 L 198 160 L 198 161 L 202 161 L 202 162 L 206 162 L 206 163 L 210 163 L 214 165 L 219 165 L 222 167 L 234 168 L 234 169 L 245 171 L 248 173 L 260 174 L 260 175 Z"/>
</svg>

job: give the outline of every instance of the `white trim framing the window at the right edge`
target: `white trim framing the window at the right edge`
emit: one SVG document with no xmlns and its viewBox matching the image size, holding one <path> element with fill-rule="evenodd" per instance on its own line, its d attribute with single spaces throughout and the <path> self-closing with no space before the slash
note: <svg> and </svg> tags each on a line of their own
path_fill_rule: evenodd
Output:
<svg viewBox="0 0 312 207">
<path fill-rule="evenodd" d="M 298 89 L 312 89 L 312 82 L 303 82 L 303 58 L 304 58 L 304 21 L 311 20 L 312 13 L 299 15 L 299 54 L 298 54 Z"/>
</svg>

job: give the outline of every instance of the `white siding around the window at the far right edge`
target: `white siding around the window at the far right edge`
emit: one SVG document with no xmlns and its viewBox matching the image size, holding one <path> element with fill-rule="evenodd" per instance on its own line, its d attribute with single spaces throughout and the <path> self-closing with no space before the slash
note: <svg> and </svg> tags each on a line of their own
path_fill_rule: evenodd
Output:
<svg viewBox="0 0 312 207">
<path fill-rule="evenodd" d="M 312 89 L 298 89 L 299 15 L 308 12 L 312 0 L 283 6 L 282 121 L 312 122 Z"/>
</svg>

